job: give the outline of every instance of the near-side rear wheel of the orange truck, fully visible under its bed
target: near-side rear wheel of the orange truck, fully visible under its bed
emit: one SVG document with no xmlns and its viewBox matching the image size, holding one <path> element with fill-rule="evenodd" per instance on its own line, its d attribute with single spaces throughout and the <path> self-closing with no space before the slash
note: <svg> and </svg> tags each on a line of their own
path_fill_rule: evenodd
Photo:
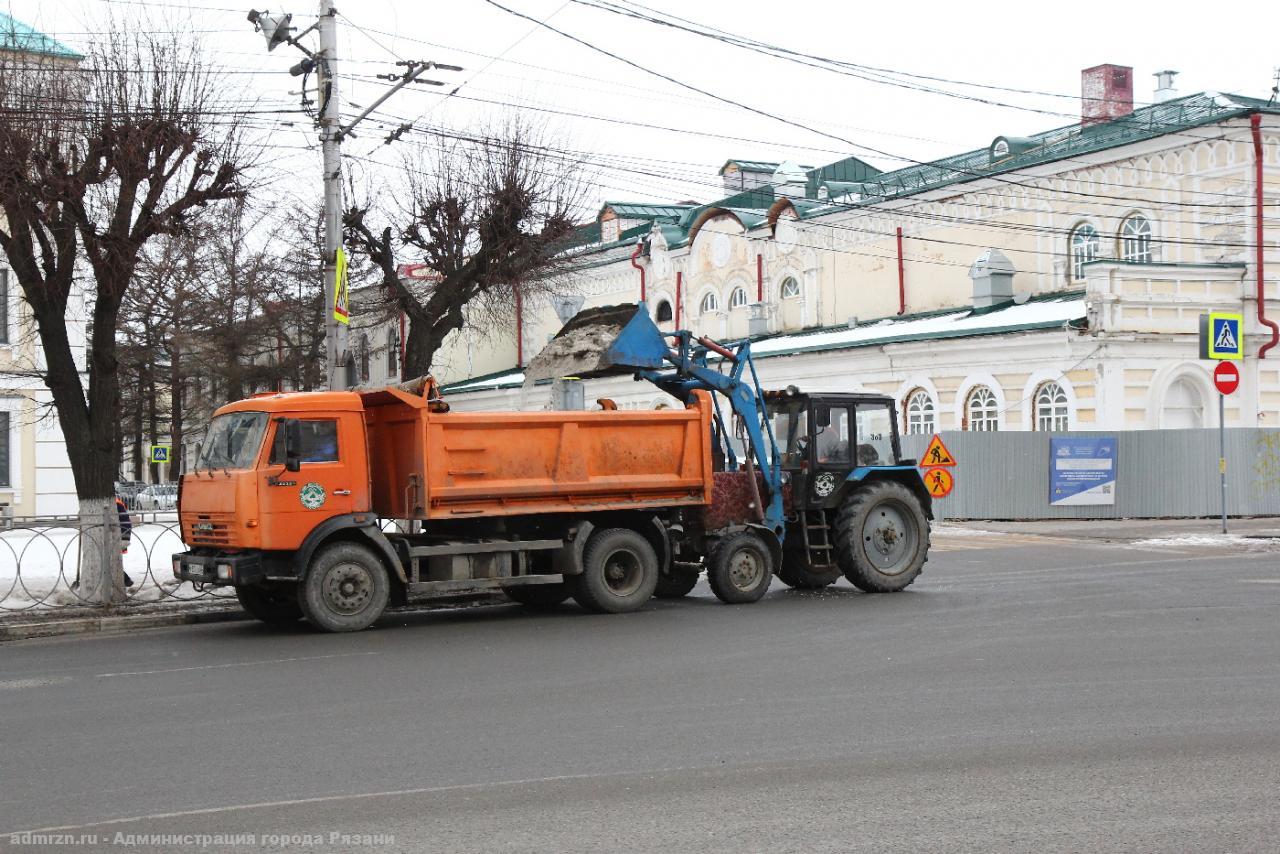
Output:
<svg viewBox="0 0 1280 854">
<path fill-rule="evenodd" d="M 628 528 L 593 534 L 582 553 L 582 574 L 568 576 L 573 600 L 596 613 L 635 611 L 657 584 L 658 556 L 649 540 Z"/>
</svg>

